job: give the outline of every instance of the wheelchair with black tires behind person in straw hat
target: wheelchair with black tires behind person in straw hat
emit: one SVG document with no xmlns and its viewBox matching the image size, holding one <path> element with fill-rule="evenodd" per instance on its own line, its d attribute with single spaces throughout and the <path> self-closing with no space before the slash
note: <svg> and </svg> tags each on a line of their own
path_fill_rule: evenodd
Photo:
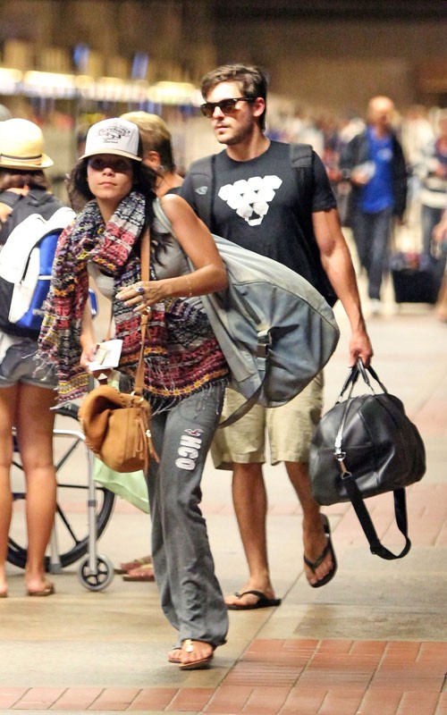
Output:
<svg viewBox="0 0 447 715">
<path fill-rule="evenodd" d="M 78 570 L 80 583 L 90 591 L 101 591 L 113 580 L 114 566 L 110 559 L 97 553 L 97 540 L 112 516 L 115 495 L 104 487 L 96 486 L 93 481 L 94 457 L 80 430 L 78 407 L 74 404 L 65 405 L 57 408 L 56 413 L 54 443 L 57 503 L 55 525 L 46 555 L 46 571 L 60 573 L 63 568 L 81 559 Z M 23 513 L 19 512 L 24 510 L 26 488 L 20 454 L 15 448 L 14 443 L 13 519 L 7 559 L 14 566 L 25 568 L 27 549 L 21 544 L 26 542 L 26 533 Z M 85 520 L 80 518 L 80 497 L 85 504 L 86 495 L 87 534 Z"/>
</svg>

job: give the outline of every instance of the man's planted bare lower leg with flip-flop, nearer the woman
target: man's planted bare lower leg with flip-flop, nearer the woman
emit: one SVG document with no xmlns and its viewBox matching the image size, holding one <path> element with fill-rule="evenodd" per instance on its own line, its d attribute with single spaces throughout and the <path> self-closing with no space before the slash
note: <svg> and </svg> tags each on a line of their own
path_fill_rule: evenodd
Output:
<svg viewBox="0 0 447 715">
<path fill-rule="evenodd" d="M 234 464 L 232 474 L 232 501 L 240 538 L 249 565 L 249 580 L 240 589 L 259 591 L 267 599 L 274 599 L 267 559 L 266 515 L 267 494 L 261 464 Z M 248 593 L 242 598 L 227 596 L 227 605 L 255 604 L 257 596 Z"/>
</svg>

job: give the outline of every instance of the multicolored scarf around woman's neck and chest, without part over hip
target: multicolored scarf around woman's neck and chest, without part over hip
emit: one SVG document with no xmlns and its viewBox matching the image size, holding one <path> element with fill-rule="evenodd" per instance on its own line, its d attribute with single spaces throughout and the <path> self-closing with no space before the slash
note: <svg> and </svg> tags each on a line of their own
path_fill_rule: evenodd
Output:
<svg viewBox="0 0 447 715">
<path fill-rule="evenodd" d="M 106 224 L 97 202 L 90 201 L 75 222 L 63 231 L 58 242 L 51 289 L 46 299 L 46 315 L 38 340 L 38 362 L 56 367 L 61 401 L 75 400 L 88 389 L 89 375 L 80 366 L 81 319 L 89 295 L 87 265 L 93 261 L 103 273 L 114 276 L 114 290 L 140 280 L 139 251 L 133 250 L 146 221 L 146 200 L 132 191 Z M 139 315 L 114 301 L 116 336 L 122 319 L 125 330 L 139 335 Z M 138 361 L 127 349 L 126 362 Z"/>
</svg>

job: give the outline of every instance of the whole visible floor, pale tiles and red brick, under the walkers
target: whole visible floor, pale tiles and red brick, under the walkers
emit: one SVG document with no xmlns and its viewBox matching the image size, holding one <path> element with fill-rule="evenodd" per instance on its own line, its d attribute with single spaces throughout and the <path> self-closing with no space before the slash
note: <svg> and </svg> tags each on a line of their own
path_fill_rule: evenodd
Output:
<svg viewBox="0 0 447 715">
<path fill-rule="evenodd" d="M 334 505 L 325 512 L 339 570 L 324 589 L 308 588 L 299 506 L 272 470 L 269 537 L 279 609 L 232 613 L 229 643 L 213 667 L 187 676 L 165 661 L 171 631 L 155 585 L 116 577 L 105 593 L 86 593 L 74 575 L 59 576 L 55 596 L 35 600 L 22 595 L 21 574 L 13 574 L 12 597 L 0 604 L 0 711 L 447 715 L 447 329 L 431 315 L 402 315 L 372 324 L 371 332 L 376 368 L 426 440 L 427 475 L 408 490 L 409 556 L 392 563 L 373 557 L 353 510 Z M 336 355 L 328 403 L 345 369 Z M 209 473 L 205 481 L 216 568 L 225 590 L 237 588 L 245 562 L 228 476 Z M 82 513 L 84 505 L 76 506 Z M 392 495 L 368 508 L 380 538 L 397 549 Z M 115 563 L 140 555 L 142 537 L 134 532 L 146 517 L 132 509 L 120 502 L 101 540 Z M 114 662 L 119 657 L 127 669 Z"/>
</svg>

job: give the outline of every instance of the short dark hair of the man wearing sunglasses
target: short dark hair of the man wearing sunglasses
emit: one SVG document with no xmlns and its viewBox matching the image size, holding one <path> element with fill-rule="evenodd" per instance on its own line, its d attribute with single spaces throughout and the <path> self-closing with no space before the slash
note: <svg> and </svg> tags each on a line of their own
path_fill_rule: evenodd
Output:
<svg viewBox="0 0 447 715">
<path fill-rule="evenodd" d="M 207 100 L 208 92 L 221 82 L 238 82 L 244 97 L 262 97 L 267 102 L 268 75 L 261 67 L 251 64 L 223 64 L 208 72 L 200 82 L 202 97 Z M 261 130 L 266 129 L 266 109 L 257 118 Z"/>
</svg>

